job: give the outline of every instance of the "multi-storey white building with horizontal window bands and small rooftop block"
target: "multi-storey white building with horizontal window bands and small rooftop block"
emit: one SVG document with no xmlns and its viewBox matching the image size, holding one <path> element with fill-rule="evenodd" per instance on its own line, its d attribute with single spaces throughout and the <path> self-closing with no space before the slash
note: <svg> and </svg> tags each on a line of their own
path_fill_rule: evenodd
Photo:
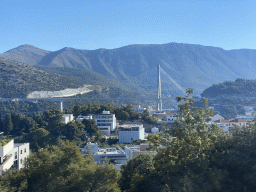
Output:
<svg viewBox="0 0 256 192">
<path fill-rule="evenodd" d="M 115 114 L 110 114 L 110 111 L 102 111 L 102 114 L 96 116 L 95 121 L 104 135 L 110 135 L 116 128 Z"/>
</svg>

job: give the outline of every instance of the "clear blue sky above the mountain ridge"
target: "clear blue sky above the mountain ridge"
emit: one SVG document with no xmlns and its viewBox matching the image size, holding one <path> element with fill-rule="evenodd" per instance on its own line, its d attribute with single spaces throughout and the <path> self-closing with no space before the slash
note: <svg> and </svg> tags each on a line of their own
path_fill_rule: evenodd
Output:
<svg viewBox="0 0 256 192">
<path fill-rule="evenodd" d="M 170 42 L 256 49 L 255 0 L 0 0 L 0 53 Z"/>
</svg>

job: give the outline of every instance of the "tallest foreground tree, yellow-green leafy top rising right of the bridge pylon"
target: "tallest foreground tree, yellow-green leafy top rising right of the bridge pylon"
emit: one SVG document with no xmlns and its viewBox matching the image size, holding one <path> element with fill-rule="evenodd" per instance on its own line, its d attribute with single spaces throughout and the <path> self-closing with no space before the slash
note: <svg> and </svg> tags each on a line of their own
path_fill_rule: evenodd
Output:
<svg viewBox="0 0 256 192">
<path fill-rule="evenodd" d="M 177 121 L 173 130 L 164 130 L 150 135 L 157 154 L 154 168 L 159 178 L 159 190 L 198 191 L 218 190 L 225 174 L 209 162 L 219 155 L 215 151 L 217 138 L 224 135 L 216 124 L 208 125 L 206 119 L 213 116 L 212 110 L 191 107 L 194 100 L 192 89 L 187 89 L 186 97 L 177 97 L 180 103 Z M 162 147 L 160 147 L 162 145 Z M 203 190 L 203 191 L 204 191 Z"/>
</svg>

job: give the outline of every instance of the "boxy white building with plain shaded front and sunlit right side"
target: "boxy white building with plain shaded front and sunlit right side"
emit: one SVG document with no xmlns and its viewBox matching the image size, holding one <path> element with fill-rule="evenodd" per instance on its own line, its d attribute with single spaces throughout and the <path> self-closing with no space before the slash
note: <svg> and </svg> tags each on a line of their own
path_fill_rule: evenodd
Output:
<svg viewBox="0 0 256 192">
<path fill-rule="evenodd" d="M 144 140 L 145 129 L 143 125 L 123 125 L 119 129 L 119 143 L 132 143 L 137 139 Z"/>
</svg>

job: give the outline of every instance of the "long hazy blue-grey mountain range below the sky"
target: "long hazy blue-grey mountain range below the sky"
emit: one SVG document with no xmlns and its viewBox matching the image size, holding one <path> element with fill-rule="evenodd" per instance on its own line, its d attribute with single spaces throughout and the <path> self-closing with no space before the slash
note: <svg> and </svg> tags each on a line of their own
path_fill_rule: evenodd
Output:
<svg viewBox="0 0 256 192">
<path fill-rule="evenodd" d="M 162 91 L 173 96 L 183 94 L 188 87 L 200 94 L 212 84 L 237 78 L 254 79 L 256 75 L 256 50 L 224 50 L 182 43 L 97 50 L 65 47 L 52 52 L 22 45 L 0 57 L 46 68 L 90 70 L 138 92 L 157 91 L 160 64 Z"/>
</svg>

